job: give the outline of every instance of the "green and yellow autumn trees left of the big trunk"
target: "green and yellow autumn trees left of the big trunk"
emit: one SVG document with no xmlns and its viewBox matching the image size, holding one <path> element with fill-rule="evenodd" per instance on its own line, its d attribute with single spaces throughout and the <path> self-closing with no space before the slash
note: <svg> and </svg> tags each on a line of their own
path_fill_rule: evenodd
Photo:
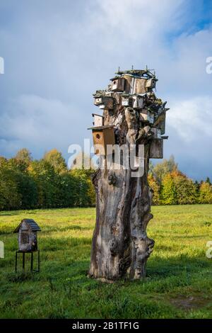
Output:
<svg viewBox="0 0 212 333">
<path fill-rule="evenodd" d="M 28 149 L 0 157 L 0 210 L 86 207 L 95 205 L 93 170 L 68 170 L 57 149 L 33 160 Z"/>
</svg>

